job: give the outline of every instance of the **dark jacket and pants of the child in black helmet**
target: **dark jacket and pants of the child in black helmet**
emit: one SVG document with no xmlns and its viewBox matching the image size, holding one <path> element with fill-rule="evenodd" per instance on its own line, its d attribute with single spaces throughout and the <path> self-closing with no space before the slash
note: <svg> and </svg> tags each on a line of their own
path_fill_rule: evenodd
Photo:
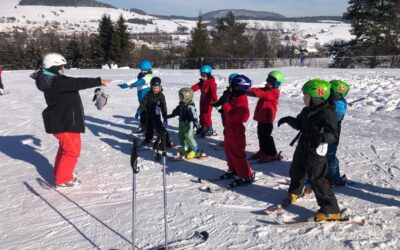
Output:
<svg viewBox="0 0 400 250">
<path fill-rule="evenodd" d="M 164 128 L 161 116 L 166 121 L 167 118 L 167 105 L 165 103 L 165 96 L 162 89 L 159 93 L 154 94 L 152 91 L 148 92 L 140 103 L 139 112 L 146 112 L 146 132 L 145 141 L 151 141 L 154 136 L 154 130 L 157 134 L 166 133 L 166 144 L 171 144 L 171 138 Z"/>
</svg>

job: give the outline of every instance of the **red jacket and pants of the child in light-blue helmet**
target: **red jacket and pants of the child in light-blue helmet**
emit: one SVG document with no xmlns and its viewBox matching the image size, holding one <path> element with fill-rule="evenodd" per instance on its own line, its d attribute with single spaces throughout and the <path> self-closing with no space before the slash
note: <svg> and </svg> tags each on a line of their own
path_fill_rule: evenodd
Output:
<svg viewBox="0 0 400 250">
<path fill-rule="evenodd" d="M 218 100 L 217 96 L 217 84 L 215 78 L 210 77 L 206 81 L 200 79 L 200 81 L 192 86 L 193 92 L 200 90 L 200 126 L 208 128 L 212 126 L 211 112 L 213 107 L 211 106 Z"/>
</svg>

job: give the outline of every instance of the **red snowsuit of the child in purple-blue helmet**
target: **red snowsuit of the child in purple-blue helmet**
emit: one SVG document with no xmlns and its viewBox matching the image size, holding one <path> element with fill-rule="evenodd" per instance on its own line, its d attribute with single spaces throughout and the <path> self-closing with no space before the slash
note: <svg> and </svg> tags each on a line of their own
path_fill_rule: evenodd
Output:
<svg viewBox="0 0 400 250">
<path fill-rule="evenodd" d="M 244 123 L 249 119 L 247 95 L 232 97 L 222 105 L 225 119 L 224 151 L 229 170 L 241 178 L 251 176 L 251 168 L 246 159 L 246 128 Z"/>
</svg>

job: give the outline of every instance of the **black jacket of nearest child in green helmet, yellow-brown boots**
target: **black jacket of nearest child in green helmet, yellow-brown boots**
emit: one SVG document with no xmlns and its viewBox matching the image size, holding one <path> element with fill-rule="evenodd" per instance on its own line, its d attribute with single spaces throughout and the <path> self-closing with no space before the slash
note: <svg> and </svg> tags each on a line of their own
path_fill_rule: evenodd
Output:
<svg viewBox="0 0 400 250">
<path fill-rule="evenodd" d="M 323 103 L 305 107 L 296 120 L 297 129 L 301 131 L 300 143 L 317 148 L 321 143 L 337 142 L 338 122 L 334 105 Z"/>
</svg>

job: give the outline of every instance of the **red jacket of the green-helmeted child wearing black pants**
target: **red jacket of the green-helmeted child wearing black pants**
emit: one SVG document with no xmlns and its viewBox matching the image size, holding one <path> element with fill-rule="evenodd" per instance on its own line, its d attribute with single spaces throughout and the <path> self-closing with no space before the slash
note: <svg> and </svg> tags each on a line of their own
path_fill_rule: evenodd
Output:
<svg viewBox="0 0 400 250">
<path fill-rule="evenodd" d="M 253 119 L 262 123 L 274 123 L 278 109 L 279 88 L 250 88 L 248 93 L 259 98 Z"/>
</svg>

